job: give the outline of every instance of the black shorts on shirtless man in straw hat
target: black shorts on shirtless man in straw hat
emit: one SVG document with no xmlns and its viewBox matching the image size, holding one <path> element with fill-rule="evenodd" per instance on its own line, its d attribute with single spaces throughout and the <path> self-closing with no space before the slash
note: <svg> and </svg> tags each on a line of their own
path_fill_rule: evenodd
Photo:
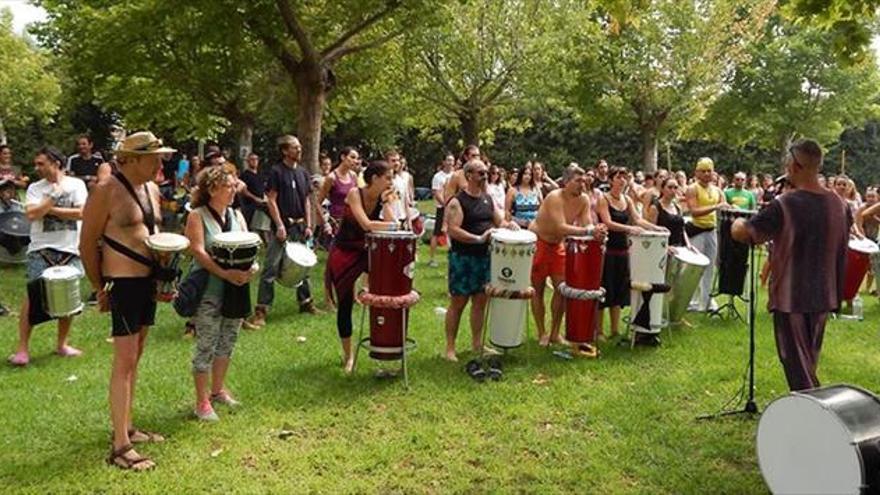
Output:
<svg viewBox="0 0 880 495">
<path fill-rule="evenodd" d="M 114 337 L 127 337 L 156 321 L 156 281 L 151 277 L 111 278 L 110 313 Z"/>
</svg>

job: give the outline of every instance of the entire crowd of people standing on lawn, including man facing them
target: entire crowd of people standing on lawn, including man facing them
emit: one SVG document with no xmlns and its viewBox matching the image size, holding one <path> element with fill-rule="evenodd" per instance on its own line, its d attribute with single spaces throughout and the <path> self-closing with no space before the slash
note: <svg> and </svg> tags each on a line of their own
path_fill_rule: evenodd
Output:
<svg viewBox="0 0 880 495">
<path fill-rule="evenodd" d="M 19 315 L 19 344 L 9 361 L 26 366 L 32 328 L 52 319 L 42 307 L 37 284 L 43 271 L 58 265 L 82 270 L 95 304 L 111 313 L 112 464 L 150 468 L 153 461 L 139 454 L 133 444 L 162 440 L 161 435 L 135 426 L 132 402 L 138 363 L 148 329 L 155 322 L 157 280 L 169 277 L 151 261 L 145 241 L 160 226 L 173 230 L 177 214 L 186 214 L 182 232 L 193 257 L 187 277 L 198 275 L 205 280 L 187 323 L 195 334 L 192 373 L 194 412 L 199 419 L 216 421 L 215 405 L 238 404 L 225 386 L 236 337 L 242 326 L 259 329 L 266 325 L 289 241 L 314 243 L 329 251 L 323 310 L 336 312 L 343 368 L 352 371 L 355 287 L 368 270 L 365 236 L 394 230 L 422 233 L 425 217 L 416 208 L 413 176 L 397 150 L 364 165 L 357 149 L 343 148 L 334 157 L 322 156 L 320 172 L 311 174 L 300 165 L 302 147 L 296 137 L 282 136 L 277 145 L 281 158 L 274 166 L 261 168 L 260 157 L 250 153 L 239 169 L 216 146 L 209 146 L 203 159 L 194 155 L 171 160 L 176 150 L 148 132 L 129 135 L 105 160 L 93 151 L 88 136 L 80 136 L 77 152 L 69 158 L 51 147 L 39 150 L 33 157 L 39 180 L 32 183 L 12 165 L 11 149 L 0 147 L 0 207 L 15 203 L 30 221 L 28 297 Z M 816 385 L 822 315 L 836 310 L 840 302 L 834 284 L 839 282 L 841 268 L 834 263 L 842 252 L 841 239 L 845 243 L 847 236 L 855 235 L 876 240 L 880 218 L 876 187 L 868 188 L 863 199 L 847 177 L 821 177 L 820 166 L 821 150 L 811 141 L 792 148 L 787 173 L 779 179 L 745 172 L 728 178 L 715 170 L 710 158 L 697 161 L 693 177 L 684 170 L 633 172 L 598 160 L 591 167 L 567 164 L 561 177 L 554 179 L 540 161 L 507 170 L 473 145 L 459 156 L 442 157 L 431 179 L 436 207 L 433 228 L 424 235 L 430 237 L 429 266 L 438 266 L 438 250 L 449 245 L 445 358 L 458 360 L 456 336 L 468 304 L 471 350 L 494 352 L 483 348 L 482 326 L 490 277 L 488 243 L 496 229 L 528 229 L 537 236 L 531 305 L 538 343 L 549 346 L 564 343 L 560 335 L 564 305 L 555 289 L 565 277 L 566 237 L 589 235 L 605 242 L 601 307 L 603 313 L 608 309 L 609 324 L 606 329 L 600 318 L 598 329 L 600 340 L 611 340 L 623 333 L 621 313 L 631 302 L 628 237 L 645 231 L 668 232 L 671 246 L 710 258 L 710 269 L 702 276 L 691 309 L 711 312 L 717 308 L 712 298 L 712 267 L 718 251 L 719 212 L 736 208 L 754 216 L 748 222 L 738 220 L 734 235 L 745 242 L 772 239 L 780 253 L 790 254 L 793 246 L 806 242 L 806 223 L 828 220 L 821 242 L 807 242 L 812 258 L 776 257 L 774 261 L 771 257 L 768 270 L 775 281 L 771 283 L 771 309 L 777 315 L 777 336 L 796 336 L 784 342 L 777 339 L 789 384 L 792 388 Z M 14 199 L 16 188 L 26 188 L 23 205 Z M 788 195 L 792 189 L 798 194 Z M 816 195 L 821 201 L 815 200 Z M 181 201 L 185 206 L 172 204 Z M 246 231 L 258 233 L 266 245 L 261 270 L 225 268 L 212 257 L 211 247 L 220 234 Z M 804 264 L 823 260 L 831 266 L 822 272 L 825 278 L 809 278 L 815 272 Z M 249 302 L 242 307 L 225 297 L 252 281 L 258 284 L 253 308 Z M 814 288 L 816 297 L 807 302 L 793 297 L 793 283 Z M 549 331 L 545 321 L 548 287 L 554 288 Z M 301 313 L 322 312 L 313 301 L 308 279 L 296 289 L 295 297 Z M 82 354 L 68 342 L 72 322 L 73 316 L 57 322 L 56 349 L 63 357 Z M 659 338 L 642 336 L 637 343 L 658 345 Z"/>
</svg>

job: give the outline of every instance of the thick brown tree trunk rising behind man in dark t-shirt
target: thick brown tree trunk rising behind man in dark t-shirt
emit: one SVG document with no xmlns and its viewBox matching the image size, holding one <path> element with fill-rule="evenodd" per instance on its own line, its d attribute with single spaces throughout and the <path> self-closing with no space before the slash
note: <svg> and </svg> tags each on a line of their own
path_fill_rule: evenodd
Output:
<svg viewBox="0 0 880 495">
<path fill-rule="evenodd" d="M 296 78 L 299 108 L 297 109 L 296 137 L 302 144 L 300 165 L 311 173 L 320 171 L 318 157 L 321 153 L 321 123 L 327 90 L 320 67 L 306 69 Z"/>
</svg>

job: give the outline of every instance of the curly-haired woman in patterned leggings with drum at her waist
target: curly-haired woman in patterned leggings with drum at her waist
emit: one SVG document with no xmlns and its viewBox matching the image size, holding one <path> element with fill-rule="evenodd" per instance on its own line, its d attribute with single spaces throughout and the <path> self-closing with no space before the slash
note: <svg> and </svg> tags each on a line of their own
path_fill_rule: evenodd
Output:
<svg viewBox="0 0 880 495">
<path fill-rule="evenodd" d="M 193 195 L 192 214 L 186 221 L 185 234 L 190 240 L 193 269 L 204 269 L 211 274 L 193 318 L 198 339 L 192 360 L 196 387 L 194 412 L 202 421 L 220 419 L 212 403 L 238 405 L 238 401 L 226 390 L 224 380 L 242 318 L 226 316 L 228 308 L 224 308 L 223 291 L 228 289 L 225 289 L 223 281 L 243 286 L 250 282 L 256 265 L 250 271 L 224 269 L 208 254 L 217 234 L 248 230 L 242 213 L 231 207 L 235 197 L 235 179 L 235 174 L 225 167 L 209 167 L 200 172 L 196 177 L 198 189 Z"/>
</svg>

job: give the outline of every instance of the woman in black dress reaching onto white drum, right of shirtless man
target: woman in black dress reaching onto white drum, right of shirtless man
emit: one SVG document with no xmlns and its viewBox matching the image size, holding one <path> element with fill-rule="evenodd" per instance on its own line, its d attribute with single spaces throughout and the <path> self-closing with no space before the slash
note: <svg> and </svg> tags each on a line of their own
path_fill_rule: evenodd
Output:
<svg viewBox="0 0 880 495">
<path fill-rule="evenodd" d="M 611 338 L 620 335 L 620 310 L 629 306 L 629 246 L 628 235 L 638 235 L 645 230 L 664 231 L 643 219 L 632 200 L 625 193 L 629 183 L 629 170 L 625 167 L 612 167 L 608 171 L 611 189 L 599 198 L 599 219 L 608 228 L 608 242 L 605 244 L 605 261 L 602 268 L 602 287 L 605 288 L 603 311 L 599 313 L 599 328 L 602 329 L 605 308 L 609 308 Z"/>
</svg>

